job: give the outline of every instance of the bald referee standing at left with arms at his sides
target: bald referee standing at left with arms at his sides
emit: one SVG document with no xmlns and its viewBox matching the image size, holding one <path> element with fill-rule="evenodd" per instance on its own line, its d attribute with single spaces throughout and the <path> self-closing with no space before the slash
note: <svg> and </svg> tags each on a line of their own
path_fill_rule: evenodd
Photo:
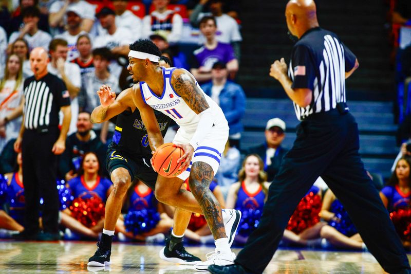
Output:
<svg viewBox="0 0 411 274">
<path fill-rule="evenodd" d="M 34 48 L 30 66 L 34 76 L 24 81 L 24 116 L 14 150 L 22 152 L 26 199 L 24 231 L 29 240 L 58 240 L 59 194 L 57 155 L 65 150 L 70 125 L 70 97 L 63 81 L 49 74 L 47 51 Z M 64 118 L 59 131 L 59 112 Z M 39 200 L 43 197 L 43 233 L 39 232 Z"/>
</svg>

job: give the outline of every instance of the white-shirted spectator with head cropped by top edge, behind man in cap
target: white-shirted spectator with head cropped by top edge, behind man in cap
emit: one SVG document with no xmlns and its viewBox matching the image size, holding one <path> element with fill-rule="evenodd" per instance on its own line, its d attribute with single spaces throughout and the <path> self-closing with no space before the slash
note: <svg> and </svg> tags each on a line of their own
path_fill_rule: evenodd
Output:
<svg viewBox="0 0 411 274">
<path fill-rule="evenodd" d="M 51 28 L 63 27 L 65 24 L 64 15 L 68 8 L 76 8 L 81 14 L 81 30 L 90 32 L 94 24 L 96 8 L 84 0 L 59 0 L 50 7 L 49 24 Z"/>
</svg>

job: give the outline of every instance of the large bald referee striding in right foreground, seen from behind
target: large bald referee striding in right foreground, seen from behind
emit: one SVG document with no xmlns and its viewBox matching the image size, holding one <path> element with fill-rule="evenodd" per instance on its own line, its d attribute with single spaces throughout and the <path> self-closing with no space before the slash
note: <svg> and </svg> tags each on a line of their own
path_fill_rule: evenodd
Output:
<svg viewBox="0 0 411 274">
<path fill-rule="evenodd" d="M 348 211 L 368 250 L 389 273 L 411 273 L 407 256 L 359 155 L 358 127 L 345 103 L 345 79 L 358 67 L 337 35 L 319 27 L 312 0 L 291 0 L 289 31 L 298 37 L 287 75 L 284 59 L 270 76 L 294 103 L 301 123 L 268 192 L 258 228 L 234 265 L 212 273 L 261 273 L 273 257 L 298 202 L 321 176 Z"/>
</svg>

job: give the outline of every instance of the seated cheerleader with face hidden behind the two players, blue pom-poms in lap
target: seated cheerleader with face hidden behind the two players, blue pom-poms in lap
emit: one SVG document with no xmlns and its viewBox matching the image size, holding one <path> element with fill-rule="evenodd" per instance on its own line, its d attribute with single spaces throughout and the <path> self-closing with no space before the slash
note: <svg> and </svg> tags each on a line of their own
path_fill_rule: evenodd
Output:
<svg viewBox="0 0 411 274">
<path fill-rule="evenodd" d="M 128 212 L 133 211 L 142 211 L 145 209 L 147 213 L 147 217 L 143 215 L 139 215 L 147 219 L 147 222 L 153 221 L 149 220 L 152 218 L 153 213 L 159 214 L 159 221 L 158 223 L 150 229 L 150 231 L 134 234 L 133 233 L 133 226 L 139 226 L 138 222 L 132 220 L 130 218 L 130 222 L 135 222 L 135 224 L 131 225 L 128 229 L 124 225 L 124 220 L 127 220 L 127 216 L 120 215 L 119 220 L 116 224 L 117 232 L 124 234 L 128 239 L 138 240 L 138 241 L 147 241 L 151 242 L 155 239 L 157 240 L 164 240 L 164 234 L 173 227 L 173 219 L 170 218 L 165 212 L 163 208 L 163 204 L 159 203 L 154 195 L 154 192 L 151 188 L 147 187 L 142 181 L 138 180 L 137 184 L 134 188 L 130 188 L 131 194 L 128 195 Z M 128 231 L 127 231 L 128 230 Z M 138 230 L 138 229 L 136 229 Z M 121 235 L 119 235 L 121 238 Z"/>
</svg>

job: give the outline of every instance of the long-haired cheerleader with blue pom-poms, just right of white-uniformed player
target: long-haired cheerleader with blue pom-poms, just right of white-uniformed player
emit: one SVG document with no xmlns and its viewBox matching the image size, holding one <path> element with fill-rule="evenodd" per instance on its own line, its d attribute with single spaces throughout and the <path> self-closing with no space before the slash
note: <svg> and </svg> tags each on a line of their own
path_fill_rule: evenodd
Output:
<svg viewBox="0 0 411 274">
<path fill-rule="evenodd" d="M 244 233 L 240 232 L 244 228 L 242 224 L 249 221 L 245 217 L 249 215 L 248 212 L 263 211 L 268 187 L 270 186 L 270 183 L 266 180 L 267 174 L 264 172 L 263 160 L 257 154 L 247 155 L 238 173 L 238 182 L 231 185 L 229 189 L 226 203 L 227 208 L 237 209 L 242 212 L 239 233 L 235 238 L 237 243 L 245 243 L 248 235 L 255 229 L 253 227 L 244 229 Z"/>
</svg>

